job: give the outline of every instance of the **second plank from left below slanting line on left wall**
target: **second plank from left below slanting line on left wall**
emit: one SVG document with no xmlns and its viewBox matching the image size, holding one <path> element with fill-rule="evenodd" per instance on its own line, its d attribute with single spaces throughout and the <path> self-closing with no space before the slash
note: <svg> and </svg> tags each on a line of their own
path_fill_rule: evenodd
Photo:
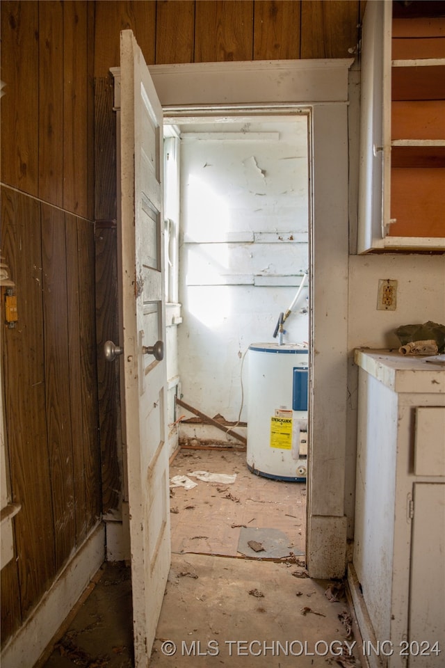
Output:
<svg viewBox="0 0 445 668">
<path fill-rule="evenodd" d="M 65 214 L 42 205 L 44 381 L 56 569 L 75 543 Z"/>
</svg>

